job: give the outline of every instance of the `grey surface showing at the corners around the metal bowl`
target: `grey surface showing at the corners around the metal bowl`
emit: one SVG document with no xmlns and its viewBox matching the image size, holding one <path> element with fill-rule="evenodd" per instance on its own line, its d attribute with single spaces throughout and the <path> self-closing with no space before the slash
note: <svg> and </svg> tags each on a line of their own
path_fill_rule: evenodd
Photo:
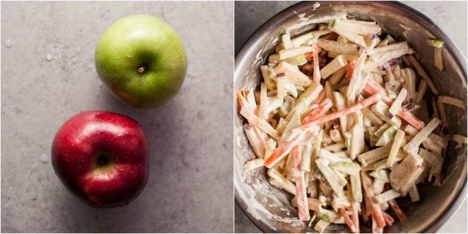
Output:
<svg viewBox="0 0 468 234">
<path fill-rule="evenodd" d="M 277 12 L 297 1 L 262 1 L 235 3 L 235 54 L 248 37 Z M 403 1 L 426 14 L 443 28 L 467 56 L 467 1 Z M 235 232 L 260 233 L 240 206 L 235 205 Z M 439 233 L 467 233 L 467 201 L 440 230 Z"/>
</svg>

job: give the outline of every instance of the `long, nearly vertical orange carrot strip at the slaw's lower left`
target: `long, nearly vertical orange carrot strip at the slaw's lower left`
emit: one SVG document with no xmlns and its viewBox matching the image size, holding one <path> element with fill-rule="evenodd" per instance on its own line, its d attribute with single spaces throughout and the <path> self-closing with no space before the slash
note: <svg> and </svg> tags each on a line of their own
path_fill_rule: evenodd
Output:
<svg viewBox="0 0 468 234">
<path fill-rule="evenodd" d="M 294 178 L 296 182 L 297 213 L 299 220 L 310 220 L 309 205 L 306 194 L 306 181 L 304 180 L 304 171 L 301 171 L 301 151 L 296 145 L 292 148 L 292 157 L 294 159 Z"/>
</svg>

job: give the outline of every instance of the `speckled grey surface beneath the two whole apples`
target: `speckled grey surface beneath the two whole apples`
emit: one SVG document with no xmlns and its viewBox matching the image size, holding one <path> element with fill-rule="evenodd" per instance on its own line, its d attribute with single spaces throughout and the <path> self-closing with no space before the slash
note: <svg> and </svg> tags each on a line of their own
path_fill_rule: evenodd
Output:
<svg viewBox="0 0 468 234">
<path fill-rule="evenodd" d="M 179 94 L 134 109 L 100 86 L 98 37 L 128 14 L 173 25 L 189 68 Z M 233 2 L 1 2 L 1 232 L 232 232 Z M 54 175 L 55 131 L 116 111 L 147 134 L 151 175 L 128 206 L 93 209 Z"/>
</svg>

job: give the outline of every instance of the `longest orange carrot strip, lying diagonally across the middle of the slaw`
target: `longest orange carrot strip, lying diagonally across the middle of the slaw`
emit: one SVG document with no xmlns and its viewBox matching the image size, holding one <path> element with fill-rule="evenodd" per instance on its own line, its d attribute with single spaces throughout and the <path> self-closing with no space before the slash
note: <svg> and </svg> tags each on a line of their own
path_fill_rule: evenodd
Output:
<svg viewBox="0 0 468 234">
<path fill-rule="evenodd" d="M 377 101 L 381 99 L 380 94 L 374 94 L 368 98 L 365 98 L 364 100 L 360 100 L 358 103 L 349 106 L 345 109 L 342 109 L 341 111 L 336 111 L 333 112 L 332 114 L 329 114 L 327 116 L 322 116 L 321 118 L 317 118 L 316 120 L 313 120 L 310 123 L 307 123 L 306 125 L 301 125 L 300 127 L 297 127 L 295 129 L 291 130 L 291 135 L 292 135 L 292 140 L 284 141 L 282 142 L 276 149 L 273 151 L 270 157 L 268 157 L 267 160 L 265 160 L 265 167 L 271 168 L 273 167 L 281 158 L 286 156 L 288 154 L 292 147 L 295 147 L 297 145 L 297 142 L 299 142 L 299 138 L 301 135 L 306 134 L 306 132 L 315 125 L 319 125 L 321 123 L 326 123 L 330 120 L 334 120 L 335 118 L 339 118 L 341 116 L 346 116 L 348 114 L 354 113 L 358 111 L 359 109 L 363 109 L 364 107 L 368 107 Z"/>
</svg>

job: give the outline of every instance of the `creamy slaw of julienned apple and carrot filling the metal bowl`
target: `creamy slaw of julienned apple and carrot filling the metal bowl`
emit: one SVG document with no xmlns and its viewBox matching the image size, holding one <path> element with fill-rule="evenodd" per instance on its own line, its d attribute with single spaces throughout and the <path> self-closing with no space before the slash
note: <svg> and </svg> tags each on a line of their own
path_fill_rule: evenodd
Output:
<svg viewBox="0 0 468 234">
<path fill-rule="evenodd" d="M 359 233 L 361 217 L 382 233 L 405 220 L 396 198 L 418 202 L 417 184 L 440 186 L 448 141 L 467 142 L 446 134 L 445 110 L 466 103 L 439 95 L 413 54 L 379 23 L 345 15 L 282 34 L 259 90 L 236 91 L 255 153 L 244 170 L 266 167 L 315 231 L 335 223 Z"/>
</svg>

